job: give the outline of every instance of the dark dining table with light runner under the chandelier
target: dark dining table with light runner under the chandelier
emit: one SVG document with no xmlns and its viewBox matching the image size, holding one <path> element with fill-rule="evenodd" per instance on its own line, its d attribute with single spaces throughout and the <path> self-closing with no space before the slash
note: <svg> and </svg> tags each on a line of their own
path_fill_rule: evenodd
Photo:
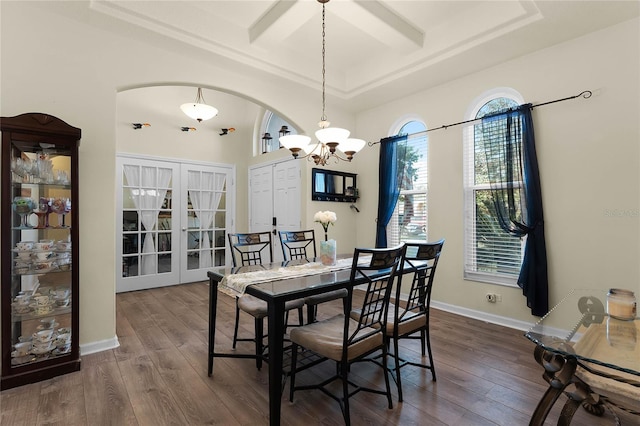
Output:
<svg viewBox="0 0 640 426">
<path fill-rule="evenodd" d="M 282 390 L 285 384 L 283 353 L 285 337 L 285 302 L 366 282 L 356 276 L 351 281 L 352 255 L 338 255 L 335 265 L 323 265 L 320 258 L 274 262 L 263 265 L 216 268 L 209 277 L 208 375 L 213 374 L 216 357 L 255 358 L 254 354 L 217 351 L 215 347 L 216 310 L 219 292 L 250 294 L 267 302 L 269 424 L 279 425 Z M 412 266 L 414 268 L 416 266 Z M 383 275 L 385 271 L 380 271 Z M 409 272 L 409 268 L 404 272 Z"/>
</svg>

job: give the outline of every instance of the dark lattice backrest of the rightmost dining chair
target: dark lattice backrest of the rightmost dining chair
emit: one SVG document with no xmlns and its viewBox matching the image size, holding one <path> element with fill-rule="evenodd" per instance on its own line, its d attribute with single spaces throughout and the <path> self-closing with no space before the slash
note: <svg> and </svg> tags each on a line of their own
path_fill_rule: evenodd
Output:
<svg viewBox="0 0 640 426">
<path fill-rule="evenodd" d="M 404 310 L 400 311 L 399 303 L 396 303 L 396 324 L 402 322 L 404 317 L 429 310 L 433 278 L 442 246 L 444 239 L 433 243 L 406 243 L 405 268 L 414 270 L 411 272 L 413 278 Z M 396 289 L 396 300 L 400 300 L 400 285 Z"/>
</svg>

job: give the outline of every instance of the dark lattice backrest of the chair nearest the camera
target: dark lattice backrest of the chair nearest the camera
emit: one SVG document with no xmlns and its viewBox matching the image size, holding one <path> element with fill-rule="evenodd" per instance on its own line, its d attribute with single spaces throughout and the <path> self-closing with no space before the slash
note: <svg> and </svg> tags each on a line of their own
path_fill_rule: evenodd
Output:
<svg viewBox="0 0 640 426">
<path fill-rule="evenodd" d="M 348 319 L 345 321 L 344 351 L 349 345 L 385 329 L 391 289 L 396 272 L 401 272 L 404 253 L 404 244 L 384 249 L 355 249 L 351 265 L 351 282 L 355 284 L 356 281 L 364 277 L 367 291 L 362 302 L 358 327 L 349 331 L 349 321 Z M 368 256 L 371 256 L 370 260 Z M 363 257 L 366 262 L 363 262 Z M 383 274 L 380 275 L 380 272 Z M 349 295 L 345 301 L 345 307 L 349 311 L 351 310 L 352 294 L 353 285 L 349 286 Z M 348 311 L 345 312 L 345 316 L 349 317 Z M 344 357 L 346 357 L 346 352 L 343 353 Z"/>
</svg>

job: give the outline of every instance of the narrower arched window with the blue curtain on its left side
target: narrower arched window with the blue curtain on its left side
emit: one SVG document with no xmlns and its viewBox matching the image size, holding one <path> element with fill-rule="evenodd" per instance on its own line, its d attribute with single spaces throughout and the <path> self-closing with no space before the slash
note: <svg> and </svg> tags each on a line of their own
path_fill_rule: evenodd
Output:
<svg viewBox="0 0 640 426">
<path fill-rule="evenodd" d="M 387 226 L 388 247 L 401 242 L 427 241 L 427 128 L 419 121 L 404 124 L 399 135 L 398 170 L 404 170 L 398 203 Z M 406 150 L 406 154 L 405 151 Z"/>
</svg>

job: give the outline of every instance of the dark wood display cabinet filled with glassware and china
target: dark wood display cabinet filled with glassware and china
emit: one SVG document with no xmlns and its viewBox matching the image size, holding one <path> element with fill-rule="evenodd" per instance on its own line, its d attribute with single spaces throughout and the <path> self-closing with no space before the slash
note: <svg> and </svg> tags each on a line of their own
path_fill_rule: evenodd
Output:
<svg viewBox="0 0 640 426">
<path fill-rule="evenodd" d="M 80 129 L 47 114 L 1 117 L 0 389 L 80 369 Z"/>
</svg>

